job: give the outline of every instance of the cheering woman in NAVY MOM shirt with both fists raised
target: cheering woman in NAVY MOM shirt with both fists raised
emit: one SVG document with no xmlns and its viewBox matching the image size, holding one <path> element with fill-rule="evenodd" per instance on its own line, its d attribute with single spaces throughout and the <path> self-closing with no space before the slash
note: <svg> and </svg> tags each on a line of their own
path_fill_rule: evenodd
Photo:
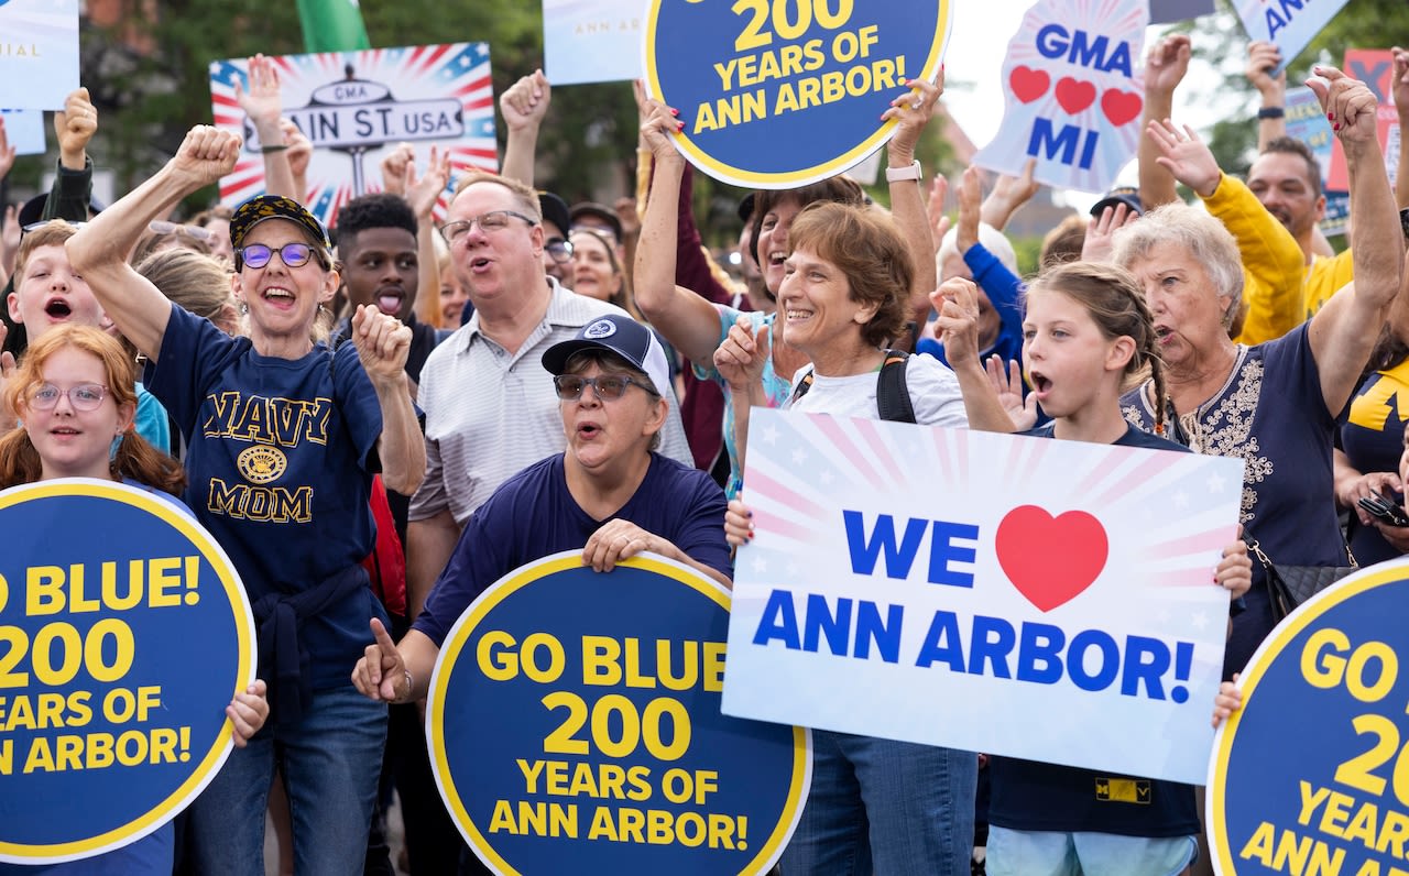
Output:
<svg viewBox="0 0 1409 876">
<path fill-rule="evenodd" d="M 234 169 L 240 137 L 190 130 L 155 176 L 68 242 L 69 259 L 147 353 L 148 387 L 186 442 L 185 500 L 230 555 L 252 603 L 271 724 L 232 753 L 190 808 L 201 873 L 262 873 L 265 799 L 279 765 L 300 873 L 362 870 L 386 708 L 348 683 L 382 608 L 359 561 L 373 544 L 380 470 L 411 493 L 426 455 L 403 370 L 410 330 L 375 307 L 337 352 L 314 342 L 333 297 L 327 232 L 278 196 L 235 210 L 232 289 L 248 337 L 172 304 L 124 261 L 162 210 Z"/>
</svg>

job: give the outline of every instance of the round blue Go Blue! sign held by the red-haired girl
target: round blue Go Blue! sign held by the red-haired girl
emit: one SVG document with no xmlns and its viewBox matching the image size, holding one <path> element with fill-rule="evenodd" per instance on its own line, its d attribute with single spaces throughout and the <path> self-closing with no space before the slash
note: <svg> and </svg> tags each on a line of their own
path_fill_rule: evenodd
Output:
<svg viewBox="0 0 1409 876">
<path fill-rule="evenodd" d="M 111 482 L 0 493 L 0 861 L 97 855 L 156 830 L 231 748 L 254 618 L 175 500 Z"/>
</svg>

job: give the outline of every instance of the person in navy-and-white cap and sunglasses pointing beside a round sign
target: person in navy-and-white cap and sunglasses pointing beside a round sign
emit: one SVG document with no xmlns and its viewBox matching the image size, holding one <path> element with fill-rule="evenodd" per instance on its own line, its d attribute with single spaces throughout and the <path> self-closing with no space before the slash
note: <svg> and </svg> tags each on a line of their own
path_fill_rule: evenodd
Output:
<svg viewBox="0 0 1409 876">
<path fill-rule="evenodd" d="M 581 549 L 582 565 L 610 572 L 650 551 L 731 584 L 723 490 L 652 449 L 672 399 L 655 335 L 630 317 L 606 315 L 550 346 L 541 362 L 552 375 L 566 449 L 506 480 L 471 515 L 400 644 L 372 620 L 376 644 L 352 670 L 369 699 L 424 697 L 440 646 L 469 603 L 551 553 Z"/>
</svg>

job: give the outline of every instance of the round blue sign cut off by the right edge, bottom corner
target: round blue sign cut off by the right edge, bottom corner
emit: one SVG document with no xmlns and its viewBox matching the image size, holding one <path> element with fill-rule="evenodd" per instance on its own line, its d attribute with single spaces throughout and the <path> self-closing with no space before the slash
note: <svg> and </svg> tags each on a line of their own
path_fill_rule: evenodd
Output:
<svg viewBox="0 0 1409 876">
<path fill-rule="evenodd" d="M 1409 561 L 1292 613 L 1215 739 L 1206 824 L 1220 873 L 1403 872 L 1409 856 Z"/>
</svg>

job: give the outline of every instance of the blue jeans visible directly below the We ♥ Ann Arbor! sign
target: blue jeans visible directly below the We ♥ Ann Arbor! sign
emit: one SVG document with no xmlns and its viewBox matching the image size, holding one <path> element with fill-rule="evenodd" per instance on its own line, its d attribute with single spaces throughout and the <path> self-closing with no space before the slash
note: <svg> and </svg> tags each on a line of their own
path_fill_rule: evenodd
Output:
<svg viewBox="0 0 1409 876">
<path fill-rule="evenodd" d="M 812 791 L 785 876 L 967 876 L 978 755 L 812 731 Z"/>
</svg>

